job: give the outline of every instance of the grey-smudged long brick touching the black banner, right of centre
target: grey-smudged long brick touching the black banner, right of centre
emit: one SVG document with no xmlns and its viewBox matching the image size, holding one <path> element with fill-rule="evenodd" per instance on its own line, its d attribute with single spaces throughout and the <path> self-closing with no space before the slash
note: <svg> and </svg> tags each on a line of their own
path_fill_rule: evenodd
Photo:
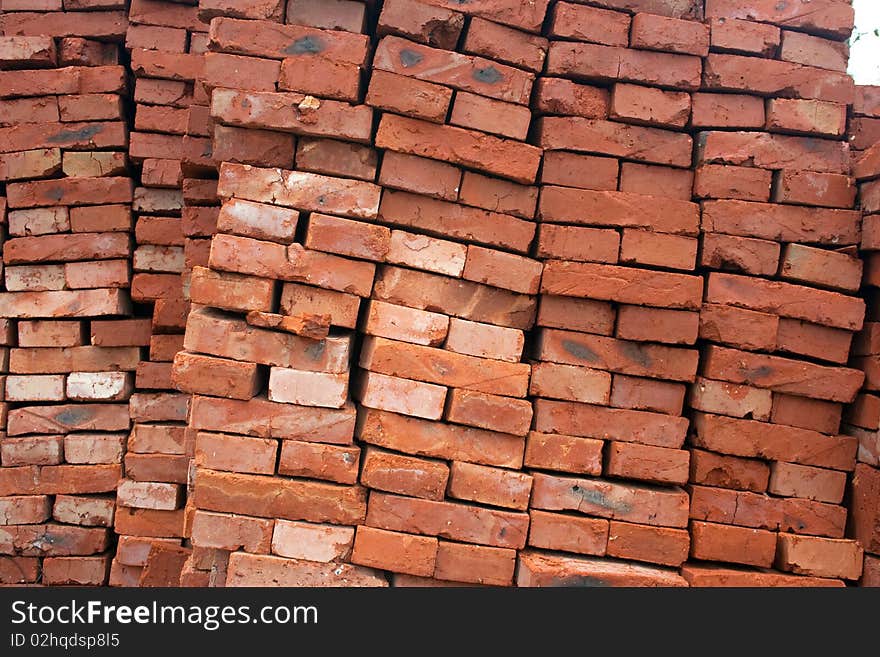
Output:
<svg viewBox="0 0 880 657">
<path fill-rule="evenodd" d="M 682 577 L 667 568 L 538 552 L 519 556 L 517 586 L 583 586 L 584 582 L 597 586 L 687 586 Z"/>
</svg>

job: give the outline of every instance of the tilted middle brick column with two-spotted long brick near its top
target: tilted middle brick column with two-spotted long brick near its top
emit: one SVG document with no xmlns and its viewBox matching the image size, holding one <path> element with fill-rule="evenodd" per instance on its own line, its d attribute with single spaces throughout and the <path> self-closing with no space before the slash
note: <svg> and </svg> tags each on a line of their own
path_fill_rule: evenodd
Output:
<svg viewBox="0 0 880 657">
<path fill-rule="evenodd" d="M 509 586 L 528 536 L 524 332 L 543 267 L 525 140 L 548 3 L 489 4 L 391 0 L 378 19 L 384 264 L 354 380 L 370 496 L 352 561 L 396 586 Z M 312 223 L 323 248 L 330 228 Z"/>
</svg>

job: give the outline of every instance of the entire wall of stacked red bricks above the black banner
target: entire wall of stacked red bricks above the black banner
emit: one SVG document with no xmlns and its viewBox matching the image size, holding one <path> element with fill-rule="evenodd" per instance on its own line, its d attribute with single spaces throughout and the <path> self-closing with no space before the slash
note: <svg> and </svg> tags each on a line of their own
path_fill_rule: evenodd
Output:
<svg viewBox="0 0 880 657">
<path fill-rule="evenodd" d="M 852 24 L 4 0 L 0 584 L 880 585 Z"/>
</svg>

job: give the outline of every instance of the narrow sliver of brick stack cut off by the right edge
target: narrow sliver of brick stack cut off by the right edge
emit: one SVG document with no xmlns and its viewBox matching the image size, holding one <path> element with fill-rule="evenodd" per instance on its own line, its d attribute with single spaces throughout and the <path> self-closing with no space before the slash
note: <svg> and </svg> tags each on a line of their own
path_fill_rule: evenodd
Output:
<svg viewBox="0 0 880 657">
<path fill-rule="evenodd" d="M 851 126 L 870 118 L 880 119 L 880 87 L 859 87 Z M 860 154 L 853 175 L 859 181 L 864 213 L 861 248 L 868 315 L 852 350 L 853 366 L 865 372 L 864 391 L 844 416 L 844 432 L 859 442 L 849 491 L 847 535 L 865 550 L 862 586 L 880 586 L 880 142 Z"/>
</svg>

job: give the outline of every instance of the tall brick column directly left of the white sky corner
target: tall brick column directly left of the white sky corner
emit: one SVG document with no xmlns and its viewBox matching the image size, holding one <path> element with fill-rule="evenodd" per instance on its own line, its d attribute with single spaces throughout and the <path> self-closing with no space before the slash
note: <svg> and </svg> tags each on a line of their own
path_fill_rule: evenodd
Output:
<svg viewBox="0 0 880 657">
<path fill-rule="evenodd" d="M 693 385 L 693 586 L 857 580 L 842 506 L 856 441 L 843 404 L 865 305 L 846 142 L 847 3 L 706 3 L 693 97 L 702 204 L 700 377 Z M 759 570 L 713 567 L 706 562 Z"/>
</svg>

